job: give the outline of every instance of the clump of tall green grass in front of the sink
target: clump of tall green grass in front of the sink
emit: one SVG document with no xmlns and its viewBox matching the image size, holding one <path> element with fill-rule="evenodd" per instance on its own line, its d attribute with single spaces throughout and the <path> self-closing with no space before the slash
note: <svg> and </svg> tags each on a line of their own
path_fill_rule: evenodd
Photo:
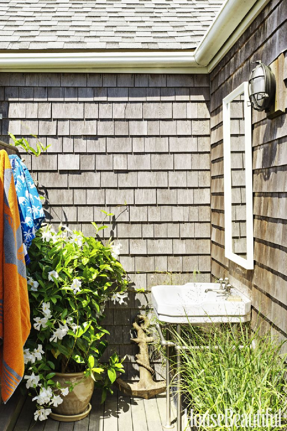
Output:
<svg viewBox="0 0 287 431">
<path fill-rule="evenodd" d="M 194 326 L 182 327 L 179 344 L 188 350 L 181 350 L 181 393 L 193 414 L 224 414 L 231 409 L 234 414 L 262 415 L 269 408 L 276 413 L 281 409 L 282 425 L 240 422 L 231 428 L 220 424 L 202 424 L 200 431 L 213 429 L 238 431 L 287 430 L 284 413 L 287 412 L 286 355 L 282 354 L 283 344 L 270 334 L 254 333 L 249 325 L 238 327 L 213 327 L 203 331 Z M 205 350 L 194 346 L 206 346 Z M 262 426 L 264 425 L 264 426 Z"/>
</svg>

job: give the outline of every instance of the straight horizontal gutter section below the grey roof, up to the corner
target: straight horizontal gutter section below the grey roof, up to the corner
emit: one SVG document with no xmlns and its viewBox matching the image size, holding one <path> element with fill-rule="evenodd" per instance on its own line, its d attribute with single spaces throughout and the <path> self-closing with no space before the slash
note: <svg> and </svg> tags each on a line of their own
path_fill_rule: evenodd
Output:
<svg viewBox="0 0 287 431">
<path fill-rule="evenodd" d="M 191 51 L 0 53 L 1 72 L 207 73 Z"/>
</svg>

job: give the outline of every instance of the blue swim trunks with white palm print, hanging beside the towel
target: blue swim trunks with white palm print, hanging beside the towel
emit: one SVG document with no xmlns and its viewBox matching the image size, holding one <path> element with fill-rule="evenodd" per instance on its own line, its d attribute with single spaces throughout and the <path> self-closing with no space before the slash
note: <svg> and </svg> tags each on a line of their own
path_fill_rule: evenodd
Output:
<svg viewBox="0 0 287 431">
<path fill-rule="evenodd" d="M 9 160 L 12 167 L 15 189 L 24 244 L 25 262 L 30 262 L 28 250 L 37 230 L 45 220 L 37 188 L 27 166 L 21 162 L 19 156 L 11 154 Z"/>
</svg>

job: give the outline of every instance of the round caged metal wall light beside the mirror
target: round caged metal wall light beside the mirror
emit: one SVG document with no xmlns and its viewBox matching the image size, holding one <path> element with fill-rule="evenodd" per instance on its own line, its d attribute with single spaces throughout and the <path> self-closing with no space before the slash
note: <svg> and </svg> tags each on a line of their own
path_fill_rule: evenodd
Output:
<svg viewBox="0 0 287 431">
<path fill-rule="evenodd" d="M 269 66 L 266 66 L 260 60 L 254 62 L 257 66 L 252 70 L 248 81 L 249 100 L 253 109 L 256 111 L 268 112 L 270 106 L 275 99 L 276 80 L 275 75 Z M 262 70 L 261 75 L 257 75 L 258 69 Z M 264 90 L 254 91 L 254 81 L 259 78 L 264 78 Z"/>
</svg>

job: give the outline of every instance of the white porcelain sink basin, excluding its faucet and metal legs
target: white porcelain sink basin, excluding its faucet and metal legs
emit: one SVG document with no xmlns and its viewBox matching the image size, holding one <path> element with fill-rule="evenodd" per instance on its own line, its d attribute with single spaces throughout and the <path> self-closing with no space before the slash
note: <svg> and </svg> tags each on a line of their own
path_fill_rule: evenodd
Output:
<svg viewBox="0 0 287 431">
<path fill-rule="evenodd" d="M 251 301 L 234 287 L 226 297 L 206 289 L 219 289 L 218 283 L 186 283 L 151 287 L 155 314 L 162 322 L 219 323 L 250 320 Z M 241 299 L 241 300 L 240 300 Z"/>
</svg>

